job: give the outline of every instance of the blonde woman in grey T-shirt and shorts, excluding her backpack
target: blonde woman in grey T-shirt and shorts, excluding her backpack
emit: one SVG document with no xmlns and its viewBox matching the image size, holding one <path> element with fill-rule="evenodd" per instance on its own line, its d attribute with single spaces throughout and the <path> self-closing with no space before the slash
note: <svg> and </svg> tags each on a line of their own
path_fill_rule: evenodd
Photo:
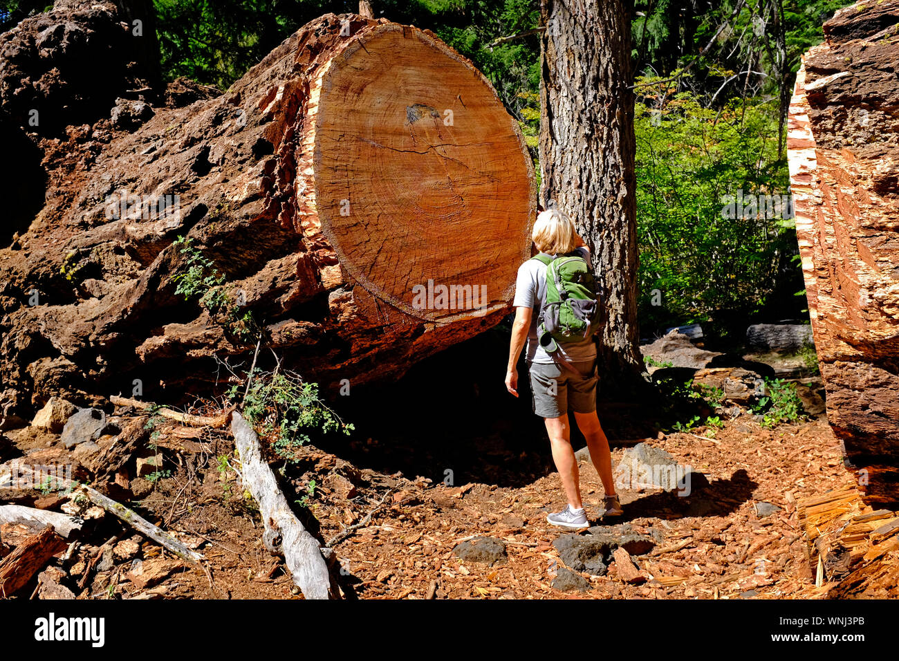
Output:
<svg viewBox="0 0 899 661">
<path fill-rule="evenodd" d="M 571 446 L 569 409 L 574 411 L 574 420 L 587 440 L 590 458 L 605 489 L 602 516 L 621 514 L 621 505 L 612 479 L 609 441 L 596 415 L 596 345 L 593 344 L 592 336 L 570 343 L 556 343 L 546 335 L 545 328 L 539 328 L 539 313 L 547 301 L 547 263 L 556 255 L 577 255 L 583 257 L 589 268 L 590 250 L 578 236 L 572 220 L 557 209 L 539 214 L 532 237 L 540 255 L 521 264 L 518 270 L 515 299 L 512 303 L 515 307 L 515 322 L 509 348 L 506 389 L 518 397 L 518 371 L 515 365 L 527 340 L 528 353 L 525 360 L 530 373 L 533 410 L 547 425 L 553 461 L 562 478 L 568 501 L 561 512 L 549 514 L 547 522 L 564 528 L 584 528 L 589 523 L 583 510 L 577 460 Z M 558 277 L 557 271 L 558 267 L 554 278 Z M 543 338 L 542 344 L 539 335 Z"/>
</svg>

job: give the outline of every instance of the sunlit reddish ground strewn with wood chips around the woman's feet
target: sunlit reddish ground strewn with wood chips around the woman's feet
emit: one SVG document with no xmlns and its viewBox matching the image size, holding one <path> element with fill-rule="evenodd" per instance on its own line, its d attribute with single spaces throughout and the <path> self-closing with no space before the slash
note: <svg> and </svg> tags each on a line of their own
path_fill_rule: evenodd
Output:
<svg viewBox="0 0 899 661">
<path fill-rule="evenodd" d="M 225 438 L 221 443 L 227 443 Z M 588 598 L 790 598 L 814 594 L 813 567 L 797 522 L 796 501 L 849 486 L 840 444 L 823 420 L 763 429 L 751 418 L 737 419 L 714 439 L 672 433 L 653 441 L 681 463 L 704 473 L 709 486 L 679 497 L 661 489 L 620 490 L 625 515 L 609 526 L 597 521 L 602 487 L 589 460 L 580 462 L 590 532 L 648 533 L 652 551 L 636 556 L 648 582 L 629 585 L 612 563 L 606 576 L 583 574 L 589 586 L 575 594 Z M 425 598 L 436 584 L 437 597 L 547 598 L 566 594 L 553 587 L 564 567 L 553 541 L 569 534 L 547 524 L 548 513 L 564 505 L 556 473 L 521 487 L 468 483 L 433 487 L 422 480 L 358 470 L 325 452 L 307 449 L 306 459 L 332 475 L 360 482 L 343 495 L 320 487 L 311 512 L 329 540 L 343 526 L 358 523 L 375 509 L 370 523 L 335 546 L 344 572 L 360 598 Z M 613 461 L 622 448 L 613 451 Z M 506 462 L 510 452 L 485 453 L 485 460 Z M 232 476 L 233 477 L 233 476 Z M 331 483 L 325 478 L 325 484 Z M 352 480 L 347 478 L 346 485 Z M 161 480 L 143 505 L 159 514 L 187 506 L 177 478 Z M 232 598 L 290 597 L 295 591 L 280 560 L 260 541 L 254 513 L 232 505 L 239 487 L 210 479 L 203 496 L 194 496 L 193 512 L 174 528 L 209 543 L 214 586 L 199 572 L 173 576 L 171 596 Z M 225 494 L 230 494 L 226 496 Z M 346 496 L 351 496 L 347 498 Z M 183 500 L 182 505 L 178 505 Z M 242 498 L 237 496 L 237 500 Z M 779 510 L 761 516 L 758 504 Z M 454 549 L 473 536 L 503 540 L 506 558 L 493 566 L 458 558 Z M 98 576 L 102 584 L 108 577 Z M 127 584 L 126 584 L 127 585 Z M 127 590 L 127 587 L 125 588 Z M 122 594 L 124 596 L 124 594 Z"/>
</svg>

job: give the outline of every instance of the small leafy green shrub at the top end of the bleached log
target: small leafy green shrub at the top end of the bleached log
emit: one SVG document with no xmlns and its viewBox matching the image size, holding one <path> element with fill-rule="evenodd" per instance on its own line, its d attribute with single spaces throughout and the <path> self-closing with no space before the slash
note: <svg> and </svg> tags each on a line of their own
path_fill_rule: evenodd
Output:
<svg viewBox="0 0 899 661">
<path fill-rule="evenodd" d="M 271 447 L 284 460 L 296 460 L 296 451 L 309 441 L 309 433 L 341 432 L 349 435 L 353 425 L 340 417 L 318 397 L 318 384 L 307 383 L 292 372 L 255 370 L 244 399 L 247 420 L 271 439 Z M 241 388 L 228 393 L 236 399 Z"/>
</svg>

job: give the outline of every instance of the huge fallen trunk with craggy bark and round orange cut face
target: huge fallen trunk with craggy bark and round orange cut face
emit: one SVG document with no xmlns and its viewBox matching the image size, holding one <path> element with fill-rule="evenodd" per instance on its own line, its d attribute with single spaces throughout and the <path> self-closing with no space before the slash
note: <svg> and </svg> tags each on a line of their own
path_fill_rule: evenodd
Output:
<svg viewBox="0 0 899 661">
<path fill-rule="evenodd" d="M 530 256 L 517 122 L 467 59 L 384 19 L 327 14 L 227 94 L 65 147 L 0 251 L 20 417 L 135 380 L 174 401 L 154 389 L 209 385 L 260 336 L 325 389 L 390 378 L 497 323 Z"/>
</svg>

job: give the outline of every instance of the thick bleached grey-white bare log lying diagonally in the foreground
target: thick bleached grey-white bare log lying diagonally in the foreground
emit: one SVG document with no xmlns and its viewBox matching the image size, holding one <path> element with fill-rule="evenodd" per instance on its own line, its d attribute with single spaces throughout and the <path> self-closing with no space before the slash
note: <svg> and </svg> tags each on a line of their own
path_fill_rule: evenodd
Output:
<svg viewBox="0 0 899 661">
<path fill-rule="evenodd" d="M 263 517 L 265 546 L 283 554 L 293 582 L 307 599 L 334 597 L 331 577 L 318 541 L 290 510 L 278 480 L 263 460 L 259 437 L 237 412 L 231 417 L 231 433 L 240 452 L 244 487 L 255 498 Z"/>
</svg>

